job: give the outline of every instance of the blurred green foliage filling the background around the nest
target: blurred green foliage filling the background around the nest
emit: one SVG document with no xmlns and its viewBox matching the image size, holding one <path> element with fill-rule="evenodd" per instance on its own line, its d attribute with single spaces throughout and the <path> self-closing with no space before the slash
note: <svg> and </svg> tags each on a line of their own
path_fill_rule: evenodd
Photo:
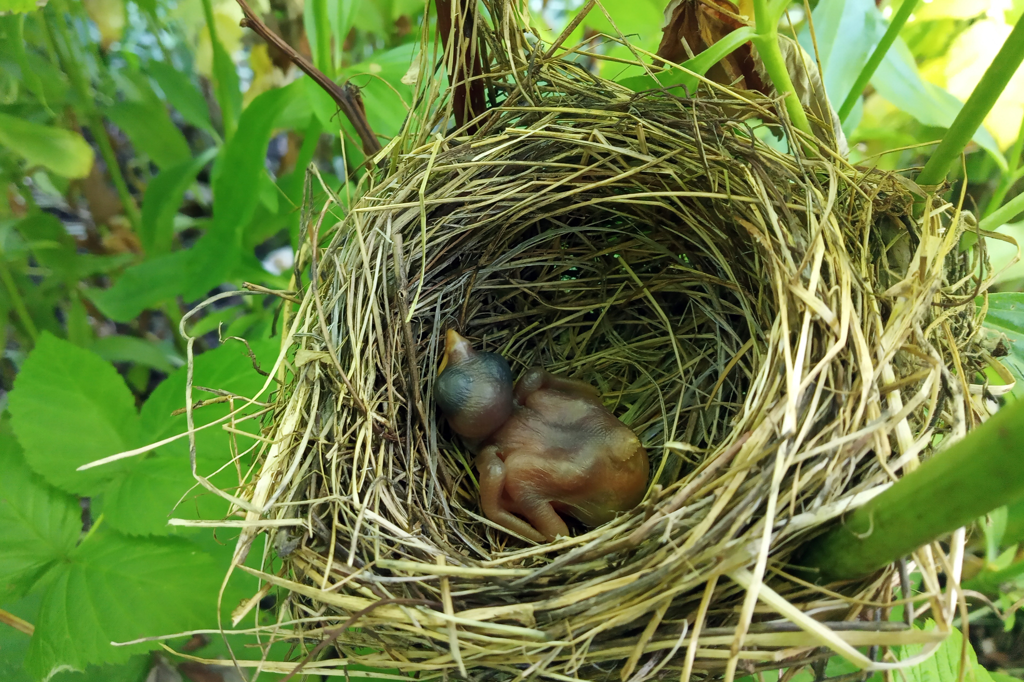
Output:
<svg viewBox="0 0 1024 682">
<path fill-rule="evenodd" d="M 581 4 L 532 0 L 530 10 L 542 34 L 552 35 Z M 751 13 L 748 2 L 738 4 Z M 900 4 L 798 2 L 780 31 L 817 54 L 838 103 Z M 615 56 L 625 48 L 601 34 L 617 30 L 656 50 L 664 0 L 603 5 L 611 20 L 591 12 L 567 43 Z M 411 104 L 424 3 L 262 0 L 254 7 L 322 71 L 360 89 L 386 144 Z M 173 413 L 184 387 L 182 315 L 245 281 L 287 288 L 306 168 L 315 165 L 345 199 L 365 172 L 361 146 L 326 93 L 239 26 L 233 0 L 49 0 L 41 8 L 35 0 L 0 0 L 0 615 L 13 624 L 0 624 L 0 679 L 42 679 L 65 668 L 84 672 L 56 679 L 238 679 L 229 669 L 147 653 L 158 647 L 153 642 L 110 645 L 218 626 L 213 604 L 232 538 L 167 524 L 226 511 L 194 485 L 186 442 L 75 469 L 181 433 L 185 417 Z M 1024 0 L 920 3 L 844 124 L 853 160 L 900 172 L 921 167 L 1021 14 Z M 426 30 L 432 35 L 429 20 Z M 615 80 L 639 74 L 611 61 L 588 65 Z M 980 216 L 1022 190 L 1022 120 L 1024 72 L 952 178 L 953 192 L 967 184 L 968 208 Z M 765 128 L 759 134 L 774 140 Z M 314 204 L 324 198 L 314 191 Z M 1024 239 L 1024 221 L 1000 229 Z M 1015 254 L 1011 244 L 990 246 L 996 269 Z M 1005 270 L 997 288 L 988 326 L 1007 334 L 1005 360 L 1019 372 L 1024 263 Z M 239 395 L 262 384 L 247 349 L 221 339 L 244 336 L 257 362 L 272 358 L 274 301 L 228 298 L 188 322 L 201 337 L 196 384 Z M 206 423 L 227 409 L 197 415 Z M 253 463 L 231 434 L 198 438 L 198 469 L 217 471 L 212 481 L 221 488 L 230 487 L 237 466 Z M 992 602 L 975 600 L 971 639 L 985 667 L 1021 677 L 1024 639 L 1014 611 L 1024 598 L 1024 504 L 981 519 L 974 537 L 966 578 Z M 223 589 L 219 616 L 229 622 L 256 585 L 236 577 Z M 261 605 L 269 609 L 273 597 Z M 258 622 L 271 619 L 266 609 L 255 611 Z M 255 639 L 232 643 L 239 657 L 264 654 Z M 169 644 L 227 657 L 219 637 Z M 949 661 L 953 646 L 943 647 Z M 901 653 L 912 652 L 894 652 Z M 284 645 L 270 653 L 286 654 Z M 941 669 L 946 658 L 938 661 L 913 675 L 950 679 Z M 849 672 L 841 660 L 827 670 Z"/>
</svg>

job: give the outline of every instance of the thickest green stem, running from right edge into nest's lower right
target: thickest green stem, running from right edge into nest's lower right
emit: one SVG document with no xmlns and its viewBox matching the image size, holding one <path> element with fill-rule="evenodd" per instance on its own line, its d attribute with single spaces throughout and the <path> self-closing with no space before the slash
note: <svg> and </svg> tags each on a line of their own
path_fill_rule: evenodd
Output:
<svg viewBox="0 0 1024 682">
<path fill-rule="evenodd" d="M 1024 401 L 1016 401 L 948 450 L 814 539 L 796 563 L 822 581 L 866 576 L 1024 494 Z"/>
</svg>

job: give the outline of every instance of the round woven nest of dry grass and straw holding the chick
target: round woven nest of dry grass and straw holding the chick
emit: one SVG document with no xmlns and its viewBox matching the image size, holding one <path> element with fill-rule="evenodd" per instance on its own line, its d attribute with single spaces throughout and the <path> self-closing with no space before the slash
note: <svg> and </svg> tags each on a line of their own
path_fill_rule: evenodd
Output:
<svg viewBox="0 0 1024 682">
<path fill-rule="evenodd" d="M 452 126 L 421 66 L 343 219 L 303 222 L 312 281 L 239 506 L 237 560 L 272 548 L 248 608 L 279 590 L 268 632 L 298 647 L 261 665 L 731 679 L 941 639 L 963 533 L 911 557 L 936 633 L 874 622 L 906 603 L 895 569 L 829 590 L 794 561 L 981 418 L 970 214 L 807 136 L 779 151 L 757 126 L 801 134 L 769 99 L 638 94 L 492 9 L 486 113 Z M 544 544 L 484 517 L 432 398 L 449 328 L 597 387 L 649 453 L 643 502 Z"/>
</svg>

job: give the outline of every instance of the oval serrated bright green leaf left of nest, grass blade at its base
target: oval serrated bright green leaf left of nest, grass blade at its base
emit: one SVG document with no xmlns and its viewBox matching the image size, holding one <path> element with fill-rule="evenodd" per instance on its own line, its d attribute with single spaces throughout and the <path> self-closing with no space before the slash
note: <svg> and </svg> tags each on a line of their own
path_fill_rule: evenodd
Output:
<svg viewBox="0 0 1024 682">
<path fill-rule="evenodd" d="M 26 461 L 70 493 L 92 495 L 120 468 L 76 471 L 79 465 L 138 443 L 135 399 L 114 366 L 47 332 L 26 358 L 8 400 Z"/>
</svg>

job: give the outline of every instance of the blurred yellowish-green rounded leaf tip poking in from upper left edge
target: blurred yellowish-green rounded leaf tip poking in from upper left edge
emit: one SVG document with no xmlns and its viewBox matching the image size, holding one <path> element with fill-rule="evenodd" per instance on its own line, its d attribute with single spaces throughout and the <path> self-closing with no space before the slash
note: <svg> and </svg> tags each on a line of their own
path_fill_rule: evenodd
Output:
<svg viewBox="0 0 1024 682">
<path fill-rule="evenodd" d="M 43 166 L 67 178 L 84 178 L 92 169 L 92 147 L 63 128 L 0 113 L 0 145 L 24 156 L 30 166 Z"/>
</svg>

